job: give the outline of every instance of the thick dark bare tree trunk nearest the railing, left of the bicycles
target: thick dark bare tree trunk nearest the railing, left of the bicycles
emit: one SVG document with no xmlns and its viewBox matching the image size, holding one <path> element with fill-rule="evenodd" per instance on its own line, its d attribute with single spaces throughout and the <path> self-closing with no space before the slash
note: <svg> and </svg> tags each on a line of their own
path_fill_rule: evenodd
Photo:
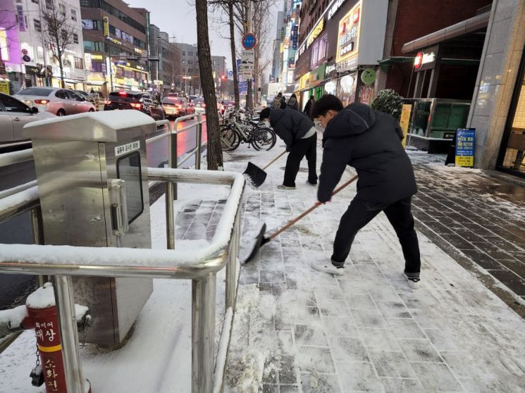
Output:
<svg viewBox="0 0 525 393">
<path fill-rule="evenodd" d="M 208 132 L 207 162 L 209 170 L 223 168 L 221 135 L 218 132 L 217 97 L 214 86 L 214 73 L 211 68 L 211 54 L 208 37 L 208 2 L 195 0 L 197 12 L 197 51 L 199 53 L 199 73 L 201 89 L 206 103 L 206 128 Z"/>
</svg>

